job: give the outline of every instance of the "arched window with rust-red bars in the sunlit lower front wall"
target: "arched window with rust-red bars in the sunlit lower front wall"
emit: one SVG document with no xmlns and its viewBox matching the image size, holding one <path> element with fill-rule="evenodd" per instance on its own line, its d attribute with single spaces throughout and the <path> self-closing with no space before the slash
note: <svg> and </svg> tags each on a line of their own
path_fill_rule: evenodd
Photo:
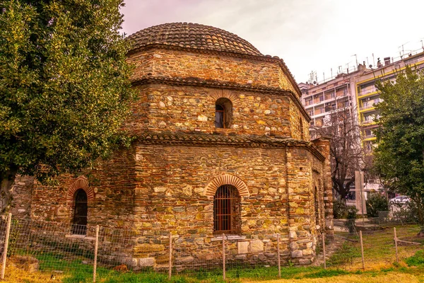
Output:
<svg viewBox="0 0 424 283">
<path fill-rule="evenodd" d="M 239 234 L 240 195 L 236 187 L 222 185 L 213 197 L 213 233 Z"/>
</svg>

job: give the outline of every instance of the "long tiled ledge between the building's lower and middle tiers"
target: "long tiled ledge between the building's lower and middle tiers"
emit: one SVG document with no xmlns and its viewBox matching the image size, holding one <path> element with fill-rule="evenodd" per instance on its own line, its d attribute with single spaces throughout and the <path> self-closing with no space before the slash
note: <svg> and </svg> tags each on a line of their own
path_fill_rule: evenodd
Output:
<svg viewBox="0 0 424 283">
<path fill-rule="evenodd" d="M 319 161 L 325 156 L 311 141 L 284 137 L 258 137 L 246 135 L 200 134 L 184 132 L 143 132 L 136 138 L 139 144 L 187 145 L 187 146 L 235 146 L 252 148 L 299 147 L 308 149 Z"/>
</svg>

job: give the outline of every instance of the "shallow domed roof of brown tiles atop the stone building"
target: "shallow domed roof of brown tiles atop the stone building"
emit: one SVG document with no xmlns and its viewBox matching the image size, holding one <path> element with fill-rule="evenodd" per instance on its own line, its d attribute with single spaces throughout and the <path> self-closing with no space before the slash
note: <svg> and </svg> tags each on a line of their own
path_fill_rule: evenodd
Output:
<svg viewBox="0 0 424 283">
<path fill-rule="evenodd" d="M 253 45 L 233 33 L 198 23 L 164 23 L 129 35 L 133 50 L 147 45 L 172 45 L 221 52 L 262 55 Z"/>
</svg>

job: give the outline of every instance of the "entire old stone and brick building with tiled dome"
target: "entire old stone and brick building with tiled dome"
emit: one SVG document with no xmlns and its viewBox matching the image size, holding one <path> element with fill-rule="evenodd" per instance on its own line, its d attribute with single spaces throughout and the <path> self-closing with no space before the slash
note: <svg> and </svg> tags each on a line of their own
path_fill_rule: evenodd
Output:
<svg viewBox="0 0 424 283">
<path fill-rule="evenodd" d="M 16 195 L 16 213 L 141 238 L 173 233 L 194 249 L 225 233 L 247 259 L 275 248 L 280 233 L 288 258 L 311 262 L 318 233 L 332 229 L 329 140 L 310 141 L 310 116 L 283 60 L 194 23 L 128 39 L 139 100 L 125 127 L 136 140 L 93 170 L 61 175 L 56 187 L 18 180 L 31 201 Z M 156 264 L 158 253 L 137 250 L 134 265 Z"/>
</svg>

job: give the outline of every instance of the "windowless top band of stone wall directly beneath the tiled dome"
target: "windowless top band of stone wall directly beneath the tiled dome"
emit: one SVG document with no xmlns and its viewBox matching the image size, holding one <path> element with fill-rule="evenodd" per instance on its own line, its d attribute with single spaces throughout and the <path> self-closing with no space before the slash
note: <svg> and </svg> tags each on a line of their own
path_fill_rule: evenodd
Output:
<svg viewBox="0 0 424 283">
<path fill-rule="evenodd" d="M 276 60 L 157 49 L 131 54 L 128 61 L 135 66 L 134 80 L 146 76 L 195 78 L 273 86 L 297 93 Z"/>
</svg>

